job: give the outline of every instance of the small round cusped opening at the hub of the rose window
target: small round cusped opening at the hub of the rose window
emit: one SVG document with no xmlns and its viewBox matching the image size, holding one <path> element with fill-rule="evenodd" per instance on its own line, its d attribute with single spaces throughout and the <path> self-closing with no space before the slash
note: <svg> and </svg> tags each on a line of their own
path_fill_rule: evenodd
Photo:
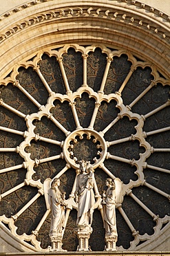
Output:
<svg viewBox="0 0 170 256">
<path fill-rule="evenodd" d="M 77 129 L 67 136 L 63 145 L 63 154 L 67 163 L 74 169 L 79 167 L 78 161 L 89 161 L 95 169 L 103 163 L 107 153 L 107 145 L 103 136 L 92 129 Z"/>
</svg>

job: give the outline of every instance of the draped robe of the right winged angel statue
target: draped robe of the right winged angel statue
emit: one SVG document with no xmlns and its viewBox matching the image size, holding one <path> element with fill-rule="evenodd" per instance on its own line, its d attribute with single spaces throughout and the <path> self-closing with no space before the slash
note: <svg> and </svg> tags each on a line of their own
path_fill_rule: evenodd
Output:
<svg viewBox="0 0 170 256">
<path fill-rule="evenodd" d="M 107 189 L 105 204 L 103 205 L 103 219 L 106 235 L 117 234 L 116 229 L 116 190 L 113 187 Z"/>
</svg>

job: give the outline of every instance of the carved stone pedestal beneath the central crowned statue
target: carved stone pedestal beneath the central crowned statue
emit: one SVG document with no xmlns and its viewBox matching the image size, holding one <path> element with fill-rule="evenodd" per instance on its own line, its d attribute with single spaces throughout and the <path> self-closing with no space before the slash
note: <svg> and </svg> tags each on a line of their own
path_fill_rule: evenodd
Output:
<svg viewBox="0 0 170 256">
<path fill-rule="evenodd" d="M 89 237 L 92 234 L 92 227 L 89 226 L 77 226 L 74 228 L 74 233 L 78 238 L 78 251 L 89 251 Z"/>
</svg>

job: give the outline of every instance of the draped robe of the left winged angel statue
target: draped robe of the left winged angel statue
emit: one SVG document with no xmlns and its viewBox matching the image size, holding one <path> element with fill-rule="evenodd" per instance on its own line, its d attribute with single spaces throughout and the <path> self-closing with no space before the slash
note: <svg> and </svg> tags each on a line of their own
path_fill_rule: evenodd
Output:
<svg viewBox="0 0 170 256">
<path fill-rule="evenodd" d="M 52 220 L 50 227 L 50 235 L 53 232 L 62 232 L 63 223 L 65 219 L 65 210 L 61 206 L 61 192 L 59 188 L 50 189 L 50 198 L 51 198 L 51 210 L 52 210 Z"/>
</svg>

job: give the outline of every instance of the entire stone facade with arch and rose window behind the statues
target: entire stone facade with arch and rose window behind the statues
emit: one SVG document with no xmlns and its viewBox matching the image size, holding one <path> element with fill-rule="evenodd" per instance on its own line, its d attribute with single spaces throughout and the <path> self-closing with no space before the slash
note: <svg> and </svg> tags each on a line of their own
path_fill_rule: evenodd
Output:
<svg viewBox="0 0 170 256">
<path fill-rule="evenodd" d="M 0 252 L 48 251 L 43 181 L 55 176 L 67 190 L 63 245 L 76 250 L 74 157 L 85 156 L 100 195 L 108 176 L 124 184 L 116 254 L 168 252 L 169 0 L 9 2 L 0 16 Z M 105 248 L 98 202 L 94 251 Z"/>
</svg>

